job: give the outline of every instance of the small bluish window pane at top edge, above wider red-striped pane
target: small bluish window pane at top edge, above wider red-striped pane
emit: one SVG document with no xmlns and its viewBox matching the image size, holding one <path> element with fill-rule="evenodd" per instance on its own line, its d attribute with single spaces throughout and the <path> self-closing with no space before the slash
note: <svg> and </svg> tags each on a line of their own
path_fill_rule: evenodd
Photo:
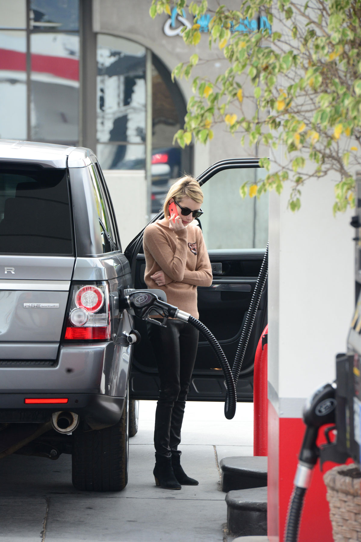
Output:
<svg viewBox="0 0 361 542">
<path fill-rule="evenodd" d="M 12 2 L 14 0 L 11 0 Z M 30 28 L 36 30 L 78 30 L 78 0 L 31 0 Z"/>
</svg>

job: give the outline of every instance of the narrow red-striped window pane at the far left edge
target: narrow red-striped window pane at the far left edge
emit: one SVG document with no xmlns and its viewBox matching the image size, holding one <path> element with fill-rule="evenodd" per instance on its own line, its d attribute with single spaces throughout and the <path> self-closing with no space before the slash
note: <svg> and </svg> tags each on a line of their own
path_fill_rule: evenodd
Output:
<svg viewBox="0 0 361 542">
<path fill-rule="evenodd" d="M 27 139 L 26 33 L 0 31 L 0 138 Z"/>
</svg>

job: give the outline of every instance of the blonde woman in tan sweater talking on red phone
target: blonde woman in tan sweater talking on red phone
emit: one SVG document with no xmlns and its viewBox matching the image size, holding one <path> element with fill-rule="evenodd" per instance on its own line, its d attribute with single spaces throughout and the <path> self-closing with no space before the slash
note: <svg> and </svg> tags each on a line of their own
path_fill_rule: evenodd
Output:
<svg viewBox="0 0 361 542">
<path fill-rule="evenodd" d="M 192 224 L 202 214 L 203 194 L 198 182 L 187 175 L 174 183 L 164 204 L 164 218 L 144 232 L 145 281 L 161 288 L 167 302 L 198 318 L 197 286 L 211 286 L 212 269 L 202 230 Z M 169 213 L 174 203 L 178 216 Z M 167 327 L 148 324 L 159 377 L 160 393 L 155 412 L 154 478 L 157 486 L 181 489 L 198 485 L 180 464 L 181 427 L 187 393 L 198 347 L 199 332 L 191 324 L 168 319 Z"/>
</svg>

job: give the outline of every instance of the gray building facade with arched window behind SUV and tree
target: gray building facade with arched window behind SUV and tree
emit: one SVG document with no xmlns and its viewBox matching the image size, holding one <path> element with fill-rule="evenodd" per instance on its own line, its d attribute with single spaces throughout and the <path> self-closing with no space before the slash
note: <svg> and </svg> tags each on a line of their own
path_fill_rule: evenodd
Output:
<svg viewBox="0 0 361 542">
<path fill-rule="evenodd" d="M 114 199 L 123 248 L 162 207 L 174 179 L 199 175 L 217 160 L 257 156 L 257 149 L 243 148 L 222 124 L 206 145 L 173 145 L 192 90 L 190 81 L 173 82 L 170 73 L 194 52 L 180 35 L 193 17 L 173 10 L 153 21 L 149 6 L 148 0 L 0 0 L 0 138 L 94 150 Z M 210 18 L 202 17 L 195 49 L 201 61 L 193 75 L 211 73 L 214 79 L 225 60 L 222 51 L 209 49 Z M 262 18 L 241 21 L 235 30 L 267 24 Z M 267 196 L 242 200 L 240 184 L 227 179 L 213 190 L 213 208 L 221 202 L 226 215 L 231 210 L 244 217 L 237 232 L 229 231 L 230 246 L 265 247 Z M 222 196 L 226 189 L 234 191 L 233 209 Z M 213 237 L 213 248 L 224 248 Z"/>
</svg>

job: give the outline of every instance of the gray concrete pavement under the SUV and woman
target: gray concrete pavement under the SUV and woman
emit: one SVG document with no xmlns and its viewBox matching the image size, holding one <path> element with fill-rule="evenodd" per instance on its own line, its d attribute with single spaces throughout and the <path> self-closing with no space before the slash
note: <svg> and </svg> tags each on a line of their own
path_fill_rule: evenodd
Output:
<svg viewBox="0 0 361 542">
<path fill-rule="evenodd" d="M 71 485 L 71 457 L 12 455 L 0 461 L 1 542 L 231 542 L 220 491 L 222 457 L 252 455 L 253 404 L 226 420 L 222 403 L 187 403 L 182 464 L 199 486 L 167 491 L 153 477 L 155 402 L 140 403 L 130 439 L 129 482 L 120 493 L 84 493 Z"/>
</svg>

